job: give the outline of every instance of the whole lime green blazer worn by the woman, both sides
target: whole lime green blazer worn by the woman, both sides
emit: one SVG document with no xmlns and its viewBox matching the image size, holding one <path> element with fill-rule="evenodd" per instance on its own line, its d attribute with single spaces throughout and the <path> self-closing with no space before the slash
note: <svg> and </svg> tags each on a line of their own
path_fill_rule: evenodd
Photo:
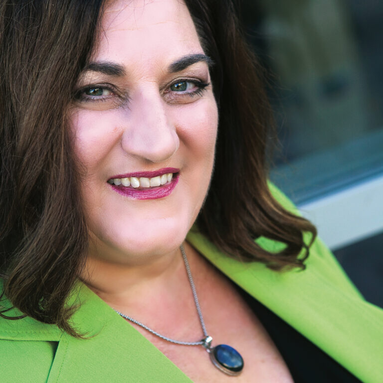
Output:
<svg viewBox="0 0 383 383">
<path fill-rule="evenodd" d="M 276 198 L 291 203 L 279 191 Z M 276 272 L 220 253 L 191 231 L 188 241 L 203 256 L 276 315 L 365 383 L 383 382 L 383 310 L 365 301 L 320 240 L 304 271 Z M 276 251 L 281 244 L 257 242 Z M 85 285 L 73 300 L 74 339 L 29 317 L 0 318 L 1 383 L 192 383 L 152 343 Z M 17 314 L 17 311 L 13 311 Z"/>
</svg>

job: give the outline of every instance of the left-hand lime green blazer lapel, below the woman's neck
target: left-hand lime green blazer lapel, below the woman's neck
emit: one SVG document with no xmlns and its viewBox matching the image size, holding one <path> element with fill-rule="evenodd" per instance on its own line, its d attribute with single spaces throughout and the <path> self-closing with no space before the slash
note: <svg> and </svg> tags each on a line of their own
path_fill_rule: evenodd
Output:
<svg viewBox="0 0 383 383">
<path fill-rule="evenodd" d="M 86 286 L 73 322 L 88 339 L 63 334 L 47 383 L 191 383 L 152 343 Z"/>
</svg>

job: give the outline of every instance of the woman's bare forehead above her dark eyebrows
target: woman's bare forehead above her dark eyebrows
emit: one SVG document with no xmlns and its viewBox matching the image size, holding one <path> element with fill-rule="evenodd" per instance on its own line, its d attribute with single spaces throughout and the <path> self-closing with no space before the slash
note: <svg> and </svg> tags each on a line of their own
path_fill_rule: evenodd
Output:
<svg viewBox="0 0 383 383">
<path fill-rule="evenodd" d="M 162 64 L 190 53 L 203 53 L 192 17 L 181 0 L 114 1 L 106 7 L 92 59 Z"/>
</svg>

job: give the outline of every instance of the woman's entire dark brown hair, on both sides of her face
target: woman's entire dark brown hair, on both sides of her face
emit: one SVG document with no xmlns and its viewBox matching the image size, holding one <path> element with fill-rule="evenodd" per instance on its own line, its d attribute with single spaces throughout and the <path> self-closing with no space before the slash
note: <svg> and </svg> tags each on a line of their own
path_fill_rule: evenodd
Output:
<svg viewBox="0 0 383 383">
<path fill-rule="evenodd" d="M 315 228 L 284 210 L 267 186 L 272 117 L 261 69 L 229 0 L 188 0 L 219 106 L 216 160 L 199 230 L 228 255 L 269 267 L 304 268 Z M 4 293 L 25 315 L 71 335 L 65 302 L 83 266 L 88 236 L 66 123 L 77 77 L 92 52 L 101 0 L 1 2 L 0 272 Z M 270 254 L 254 239 L 284 243 Z M 303 257 L 298 257 L 302 250 Z M 1 316 L 6 316 L 7 308 Z"/>
</svg>

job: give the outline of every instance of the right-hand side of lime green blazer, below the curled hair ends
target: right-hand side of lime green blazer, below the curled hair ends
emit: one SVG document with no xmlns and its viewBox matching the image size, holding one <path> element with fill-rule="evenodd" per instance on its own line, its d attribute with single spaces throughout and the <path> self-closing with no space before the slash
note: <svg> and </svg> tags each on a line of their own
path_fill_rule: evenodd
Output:
<svg viewBox="0 0 383 383">
<path fill-rule="evenodd" d="M 229 258 L 196 232 L 189 233 L 188 241 L 236 284 L 363 382 L 383 381 L 383 310 L 361 299 L 319 241 L 311 248 L 306 270 L 288 272 Z M 267 247 L 267 240 L 260 242 Z"/>
</svg>

